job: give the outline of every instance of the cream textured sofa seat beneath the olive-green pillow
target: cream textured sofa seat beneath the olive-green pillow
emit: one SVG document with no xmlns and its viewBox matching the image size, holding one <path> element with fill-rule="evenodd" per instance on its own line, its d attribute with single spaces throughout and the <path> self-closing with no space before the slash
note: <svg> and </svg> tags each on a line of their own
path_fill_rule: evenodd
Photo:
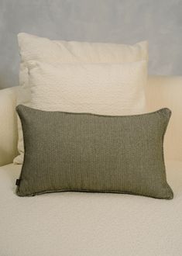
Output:
<svg viewBox="0 0 182 256">
<path fill-rule="evenodd" d="M 20 168 L 0 168 L 1 255 L 181 254 L 182 162 L 167 162 L 170 201 L 86 192 L 19 197 Z"/>
</svg>

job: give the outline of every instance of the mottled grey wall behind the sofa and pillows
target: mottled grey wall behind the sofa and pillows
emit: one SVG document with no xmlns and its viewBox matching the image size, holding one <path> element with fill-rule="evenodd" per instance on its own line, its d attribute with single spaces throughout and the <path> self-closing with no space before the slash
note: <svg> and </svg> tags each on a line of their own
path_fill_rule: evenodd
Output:
<svg viewBox="0 0 182 256">
<path fill-rule="evenodd" d="M 18 85 L 19 32 L 62 40 L 149 40 L 149 73 L 182 74 L 182 0 L 0 0 L 0 88 Z"/>
</svg>

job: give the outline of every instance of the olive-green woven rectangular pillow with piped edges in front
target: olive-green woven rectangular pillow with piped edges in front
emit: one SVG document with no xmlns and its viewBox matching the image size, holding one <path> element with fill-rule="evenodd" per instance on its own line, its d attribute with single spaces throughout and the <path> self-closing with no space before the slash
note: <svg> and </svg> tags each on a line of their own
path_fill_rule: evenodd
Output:
<svg viewBox="0 0 182 256">
<path fill-rule="evenodd" d="M 25 157 L 17 195 L 118 192 L 172 199 L 163 159 L 169 109 L 136 116 L 18 106 Z"/>
</svg>

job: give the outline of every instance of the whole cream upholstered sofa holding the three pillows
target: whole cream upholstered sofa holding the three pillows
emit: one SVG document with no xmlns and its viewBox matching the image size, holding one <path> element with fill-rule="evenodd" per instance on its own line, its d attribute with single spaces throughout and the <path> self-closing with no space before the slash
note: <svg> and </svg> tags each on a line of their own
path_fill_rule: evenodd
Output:
<svg viewBox="0 0 182 256">
<path fill-rule="evenodd" d="M 149 110 L 169 107 L 165 137 L 173 200 L 136 195 L 15 195 L 17 87 L 0 91 L 0 256 L 182 255 L 182 77 L 150 77 Z M 31 170 L 30 170 L 31 171 Z"/>
</svg>

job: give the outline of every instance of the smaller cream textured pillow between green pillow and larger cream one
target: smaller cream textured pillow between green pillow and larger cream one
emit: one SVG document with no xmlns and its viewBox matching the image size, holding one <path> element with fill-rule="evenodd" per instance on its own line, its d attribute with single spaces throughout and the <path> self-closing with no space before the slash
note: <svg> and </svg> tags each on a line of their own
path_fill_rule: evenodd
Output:
<svg viewBox="0 0 182 256">
<path fill-rule="evenodd" d="M 146 61 L 46 64 L 29 61 L 30 106 L 121 116 L 145 112 Z"/>
</svg>

